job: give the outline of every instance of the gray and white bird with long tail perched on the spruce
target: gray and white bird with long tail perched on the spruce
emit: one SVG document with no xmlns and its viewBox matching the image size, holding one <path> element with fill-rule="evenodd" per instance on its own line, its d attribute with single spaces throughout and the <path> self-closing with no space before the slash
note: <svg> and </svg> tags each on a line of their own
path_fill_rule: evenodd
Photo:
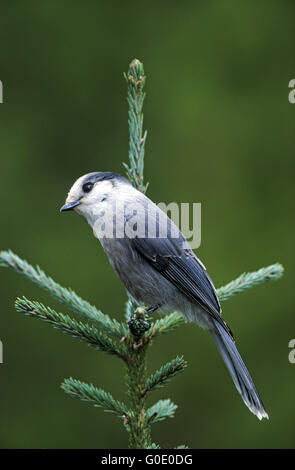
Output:
<svg viewBox="0 0 295 470">
<path fill-rule="evenodd" d="M 252 377 L 224 321 L 204 264 L 177 225 L 118 173 L 91 172 L 71 187 L 61 212 L 84 216 L 128 294 L 148 311 L 179 311 L 209 330 L 244 403 L 268 419 Z"/>
</svg>

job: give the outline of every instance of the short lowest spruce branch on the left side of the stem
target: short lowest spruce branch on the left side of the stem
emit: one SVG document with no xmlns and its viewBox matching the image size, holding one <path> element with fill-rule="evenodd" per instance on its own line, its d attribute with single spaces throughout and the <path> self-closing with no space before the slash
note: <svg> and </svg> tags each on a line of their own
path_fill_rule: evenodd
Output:
<svg viewBox="0 0 295 470">
<path fill-rule="evenodd" d="M 115 413 L 120 418 L 123 418 L 125 423 L 132 415 L 132 412 L 124 403 L 115 400 L 109 392 L 105 392 L 93 384 L 87 384 L 70 377 L 62 382 L 61 388 L 73 397 L 88 401 L 98 408 L 104 408 L 106 412 Z"/>
</svg>

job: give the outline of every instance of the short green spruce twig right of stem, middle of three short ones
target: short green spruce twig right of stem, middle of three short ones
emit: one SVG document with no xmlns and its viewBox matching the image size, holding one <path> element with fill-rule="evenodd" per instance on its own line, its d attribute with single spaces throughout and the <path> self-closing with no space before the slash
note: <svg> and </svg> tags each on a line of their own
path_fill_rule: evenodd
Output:
<svg viewBox="0 0 295 470">
<path fill-rule="evenodd" d="M 172 361 L 163 365 L 153 375 L 151 375 L 144 386 L 141 394 L 144 396 L 147 392 L 156 390 L 164 386 L 164 383 L 168 382 L 172 377 L 182 372 L 187 366 L 187 362 L 182 356 L 177 356 Z"/>
</svg>

